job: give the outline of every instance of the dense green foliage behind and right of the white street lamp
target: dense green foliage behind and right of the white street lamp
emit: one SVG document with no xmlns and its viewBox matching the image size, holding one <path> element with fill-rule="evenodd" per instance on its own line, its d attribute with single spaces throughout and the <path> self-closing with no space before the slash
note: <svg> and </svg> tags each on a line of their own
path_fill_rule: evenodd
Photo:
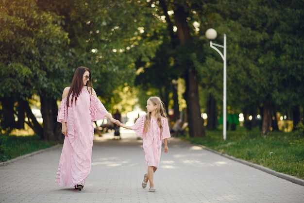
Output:
<svg viewBox="0 0 304 203">
<path fill-rule="evenodd" d="M 227 34 L 228 111 L 256 114 L 264 102 L 278 111 L 303 105 L 303 1 L 206 1 L 196 13 L 201 14 L 200 36 L 215 28 L 214 42 L 222 44 Z M 203 94 L 211 94 L 220 106 L 222 60 L 204 37 L 197 42 L 205 57 L 195 61 Z"/>
</svg>

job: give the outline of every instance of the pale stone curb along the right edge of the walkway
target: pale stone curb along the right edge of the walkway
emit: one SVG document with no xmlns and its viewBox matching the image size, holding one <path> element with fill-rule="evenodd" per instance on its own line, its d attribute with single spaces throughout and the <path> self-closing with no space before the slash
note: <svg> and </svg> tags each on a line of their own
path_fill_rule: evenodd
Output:
<svg viewBox="0 0 304 203">
<path fill-rule="evenodd" d="M 301 186 L 304 186 L 304 180 L 300 179 L 300 178 L 296 178 L 296 177 L 293 177 L 291 175 L 287 175 L 287 174 L 284 174 L 284 173 L 280 173 L 280 172 L 277 172 L 275 170 L 272 170 L 272 169 L 269 169 L 269 168 L 266 168 L 266 167 L 263 167 L 263 166 L 260 166 L 260 165 L 257 165 L 257 164 L 253 164 L 251 162 L 248 162 L 248 161 L 245 161 L 245 160 L 242 160 L 242 159 L 237 159 L 236 157 L 233 157 L 233 156 L 230 156 L 230 155 L 227 155 L 225 153 L 222 153 L 222 152 L 218 152 L 218 151 L 215 151 L 215 150 L 211 150 L 203 145 L 198 145 L 200 147 L 202 147 L 204 150 L 207 150 L 209 152 L 213 152 L 213 153 L 216 153 L 216 154 L 219 154 L 221 156 L 224 156 L 226 158 L 229 158 L 229 159 L 232 159 L 234 161 L 237 161 L 239 163 L 242 163 L 242 164 L 245 164 L 245 165 L 248 165 L 248 166 L 251 166 L 255 169 L 259 169 L 259 170 L 262 170 L 264 172 L 267 172 L 271 175 L 274 175 L 274 176 L 277 176 L 279 178 L 283 178 L 287 181 L 290 181 L 292 183 L 295 183 L 295 184 L 298 184 L 298 185 L 301 185 Z"/>
</svg>

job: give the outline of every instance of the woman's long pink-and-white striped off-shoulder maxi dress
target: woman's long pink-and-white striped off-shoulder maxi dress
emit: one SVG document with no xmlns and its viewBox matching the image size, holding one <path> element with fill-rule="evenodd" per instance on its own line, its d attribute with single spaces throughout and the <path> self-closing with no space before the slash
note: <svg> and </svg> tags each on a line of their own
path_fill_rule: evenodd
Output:
<svg viewBox="0 0 304 203">
<path fill-rule="evenodd" d="M 70 96 L 71 101 L 71 96 Z M 67 122 L 68 136 L 65 136 L 59 160 L 56 183 L 75 186 L 85 183 L 91 170 L 91 155 L 94 139 L 93 121 L 105 118 L 108 112 L 101 101 L 84 87 L 72 105 L 67 107 L 67 97 L 60 104 L 57 121 Z"/>
</svg>

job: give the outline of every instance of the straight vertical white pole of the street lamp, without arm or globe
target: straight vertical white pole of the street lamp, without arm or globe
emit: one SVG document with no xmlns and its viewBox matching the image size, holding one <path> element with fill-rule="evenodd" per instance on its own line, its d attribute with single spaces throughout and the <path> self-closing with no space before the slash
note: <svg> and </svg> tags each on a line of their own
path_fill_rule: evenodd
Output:
<svg viewBox="0 0 304 203">
<path fill-rule="evenodd" d="M 226 131 L 227 131 L 227 102 L 226 102 L 226 34 L 224 34 L 224 73 L 223 73 L 223 138 L 226 140 Z"/>
</svg>

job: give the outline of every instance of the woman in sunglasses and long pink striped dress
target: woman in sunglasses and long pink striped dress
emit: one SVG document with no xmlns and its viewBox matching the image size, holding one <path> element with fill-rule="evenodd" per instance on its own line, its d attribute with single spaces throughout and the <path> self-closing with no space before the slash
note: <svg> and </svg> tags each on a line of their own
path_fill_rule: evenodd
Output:
<svg viewBox="0 0 304 203">
<path fill-rule="evenodd" d="M 94 138 L 93 121 L 109 118 L 118 120 L 104 108 L 92 87 L 89 68 L 78 67 L 72 84 L 62 93 L 57 121 L 65 135 L 59 160 L 56 183 L 63 186 L 84 188 L 91 169 L 91 155 Z"/>
</svg>

